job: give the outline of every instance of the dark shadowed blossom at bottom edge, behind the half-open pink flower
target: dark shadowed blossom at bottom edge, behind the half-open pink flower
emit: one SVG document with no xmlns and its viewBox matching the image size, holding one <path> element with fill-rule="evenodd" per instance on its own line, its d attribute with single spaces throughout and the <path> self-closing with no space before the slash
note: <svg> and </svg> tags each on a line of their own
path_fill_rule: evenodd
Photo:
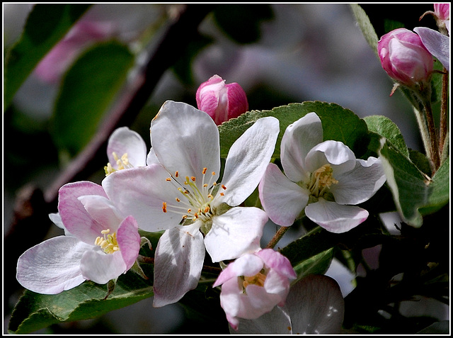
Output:
<svg viewBox="0 0 453 338">
<path fill-rule="evenodd" d="M 291 286 L 285 305 L 253 319 L 239 319 L 231 334 L 339 334 L 345 302 L 338 283 L 309 275 Z"/>
</svg>

